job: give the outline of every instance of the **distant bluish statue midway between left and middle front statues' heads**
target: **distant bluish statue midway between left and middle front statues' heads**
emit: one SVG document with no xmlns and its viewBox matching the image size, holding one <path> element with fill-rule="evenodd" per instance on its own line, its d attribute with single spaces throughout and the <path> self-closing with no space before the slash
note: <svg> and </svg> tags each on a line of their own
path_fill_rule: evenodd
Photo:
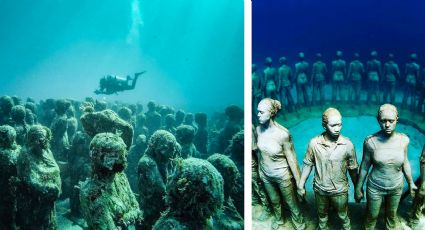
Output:
<svg viewBox="0 0 425 230">
<path fill-rule="evenodd" d="M 301 105 L 303 101 L 304 106 L 309 105 L 307 83 L 308 83 L 308 68 L 309 64 L 304 60 L 305 55 L 303 52 L 298 54 L 299 62 L 295 64 L 295 81 L 297 87 L 297 105 Z"/>
</svg>

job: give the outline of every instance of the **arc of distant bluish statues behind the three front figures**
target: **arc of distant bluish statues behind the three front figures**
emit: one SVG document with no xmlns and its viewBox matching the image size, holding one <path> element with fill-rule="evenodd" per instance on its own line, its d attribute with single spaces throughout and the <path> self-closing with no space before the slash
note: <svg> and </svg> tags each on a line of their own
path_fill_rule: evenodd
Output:
<svg viewBox="0 0 425 230">
<path fill-rule="evenodd" d="M 257 65 L 252 65 L 252 108 L 256 108 L 264 97 L 285 102 L 290 112 L 300 106 L 323 105 L 328 99 L 333 104 L 338 101 L 395 104 L 396 92 L 400 91 L 403 98 L 397 103 L 403 108 L 408 106 L 411 111 L 424 113 L 425 117 L 425 68 L 421 69 L 415 53 L 410 55 L 402 70 L 393 54 L 388 54 L 386 62 L 382 63 L 376 51 L 371 52 L 366 63 L 358 53 L 354 53 L 352 61 L 347 63 L 342 51 L 337 51 L 330 70 L 321 53 L 316 54 L 311 66 L 304 53 L 299 53 L 298 59 L 295 68 L 290 66 L 286 57 L 279 58 L 278 67 L 274 67 L 272 58 L 267 57 L 260 73 Z M 331 98 L 325 98 L 327 84 L 332 88 Z M 291 93 L 294 85 L 296 100 Z M 363 91 L 366 91 L 364 98 Z"/>
</svg>

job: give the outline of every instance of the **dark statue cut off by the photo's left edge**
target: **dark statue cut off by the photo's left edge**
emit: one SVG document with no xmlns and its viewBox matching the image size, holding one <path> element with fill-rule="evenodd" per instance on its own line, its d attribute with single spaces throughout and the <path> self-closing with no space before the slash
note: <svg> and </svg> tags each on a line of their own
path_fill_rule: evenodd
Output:
<svg viewBox="0 0 425 230">
<path fill-rule="evenodd" d="M 0 229 L 16 229 L 16 164 L 21 146 L 9 125 L 0 126 Z"/>
</svg>

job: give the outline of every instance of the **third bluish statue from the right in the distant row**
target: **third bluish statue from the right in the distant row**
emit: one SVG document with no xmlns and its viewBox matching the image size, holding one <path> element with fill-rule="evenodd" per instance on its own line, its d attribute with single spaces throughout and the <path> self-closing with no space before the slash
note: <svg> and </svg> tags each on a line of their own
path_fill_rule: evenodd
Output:
<svg viewBox="0 0 425 230">
<path fill-rule="evenodd" d="M 379 103 L 379 79 L 381 78 L 381 62 L 378 60 L 378 52 L 372 51 L 370 53 L 372 60 L 367 62 L 367 99 L 369 104 L 372 102 L 372 97 L 375 97 L 375 102 Z"/>
</svg>

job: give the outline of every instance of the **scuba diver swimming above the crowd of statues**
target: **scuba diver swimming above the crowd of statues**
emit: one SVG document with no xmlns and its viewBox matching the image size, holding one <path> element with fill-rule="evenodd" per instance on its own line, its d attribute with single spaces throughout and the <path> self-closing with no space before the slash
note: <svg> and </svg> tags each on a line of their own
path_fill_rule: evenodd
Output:
<svg viewBox="0 0 425 230">
<path fill-rule="evenodd" d="M 137 78 L 145 72 L 135 73 L 134 78 L 130 76 L 122 78 L 116 75 L 106 75 L 100 79 L 99 88 L 94 93 L 110 95 L 124 90 L 132 90 L 136 86 Z M 129 84 L 130 81 L 131 84 Z"/>
</svg>

